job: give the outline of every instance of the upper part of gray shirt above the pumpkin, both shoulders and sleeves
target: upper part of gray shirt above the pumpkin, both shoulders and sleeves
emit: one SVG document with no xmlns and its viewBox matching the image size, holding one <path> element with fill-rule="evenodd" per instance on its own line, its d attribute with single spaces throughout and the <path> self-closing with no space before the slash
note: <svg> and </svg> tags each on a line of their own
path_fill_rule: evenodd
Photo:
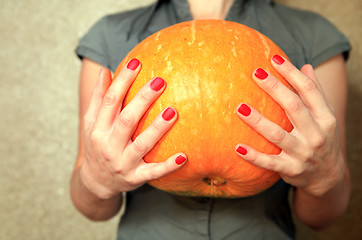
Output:
<svg viewBox="0 0 362 240">
<path fill-rule="evenodd" d="M 161 0 L 133 11 L 105 16 L 80 40 L 76 53 L 111 71 L 140 41 L 170 25 L 192 20 L 187 0 Z M 348 40 L 321 16 L 268 0 L 235 0 L 226 20 L 245 24 L 274 41 L 298 67 L 317 66 L 348 55 Z"/>
</svg>

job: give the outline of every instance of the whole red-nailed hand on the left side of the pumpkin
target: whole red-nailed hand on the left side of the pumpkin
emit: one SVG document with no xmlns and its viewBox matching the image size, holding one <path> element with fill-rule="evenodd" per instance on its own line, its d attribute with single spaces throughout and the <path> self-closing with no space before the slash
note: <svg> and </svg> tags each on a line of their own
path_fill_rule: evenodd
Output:
<svg viewBox="0 0 362 240">
<path fill-rule="evenodd" d="M 85 153 L 80 179 L 101 199 L 134 190 L 177 170 L 186 161 L 182 153 L 161 163 L 143 161 L 143 156 L 176 121 L 173 108 L 163 110 L 144 132 L 131 140 L 139 120 L 166 87 L 163 79 L 151 79 L 123 108 L 124 97 L 140 69 L 140 62 L 133 59 L 113 82 L 109 70 L 102 69 L 84 116 Z"/>
</svg>

